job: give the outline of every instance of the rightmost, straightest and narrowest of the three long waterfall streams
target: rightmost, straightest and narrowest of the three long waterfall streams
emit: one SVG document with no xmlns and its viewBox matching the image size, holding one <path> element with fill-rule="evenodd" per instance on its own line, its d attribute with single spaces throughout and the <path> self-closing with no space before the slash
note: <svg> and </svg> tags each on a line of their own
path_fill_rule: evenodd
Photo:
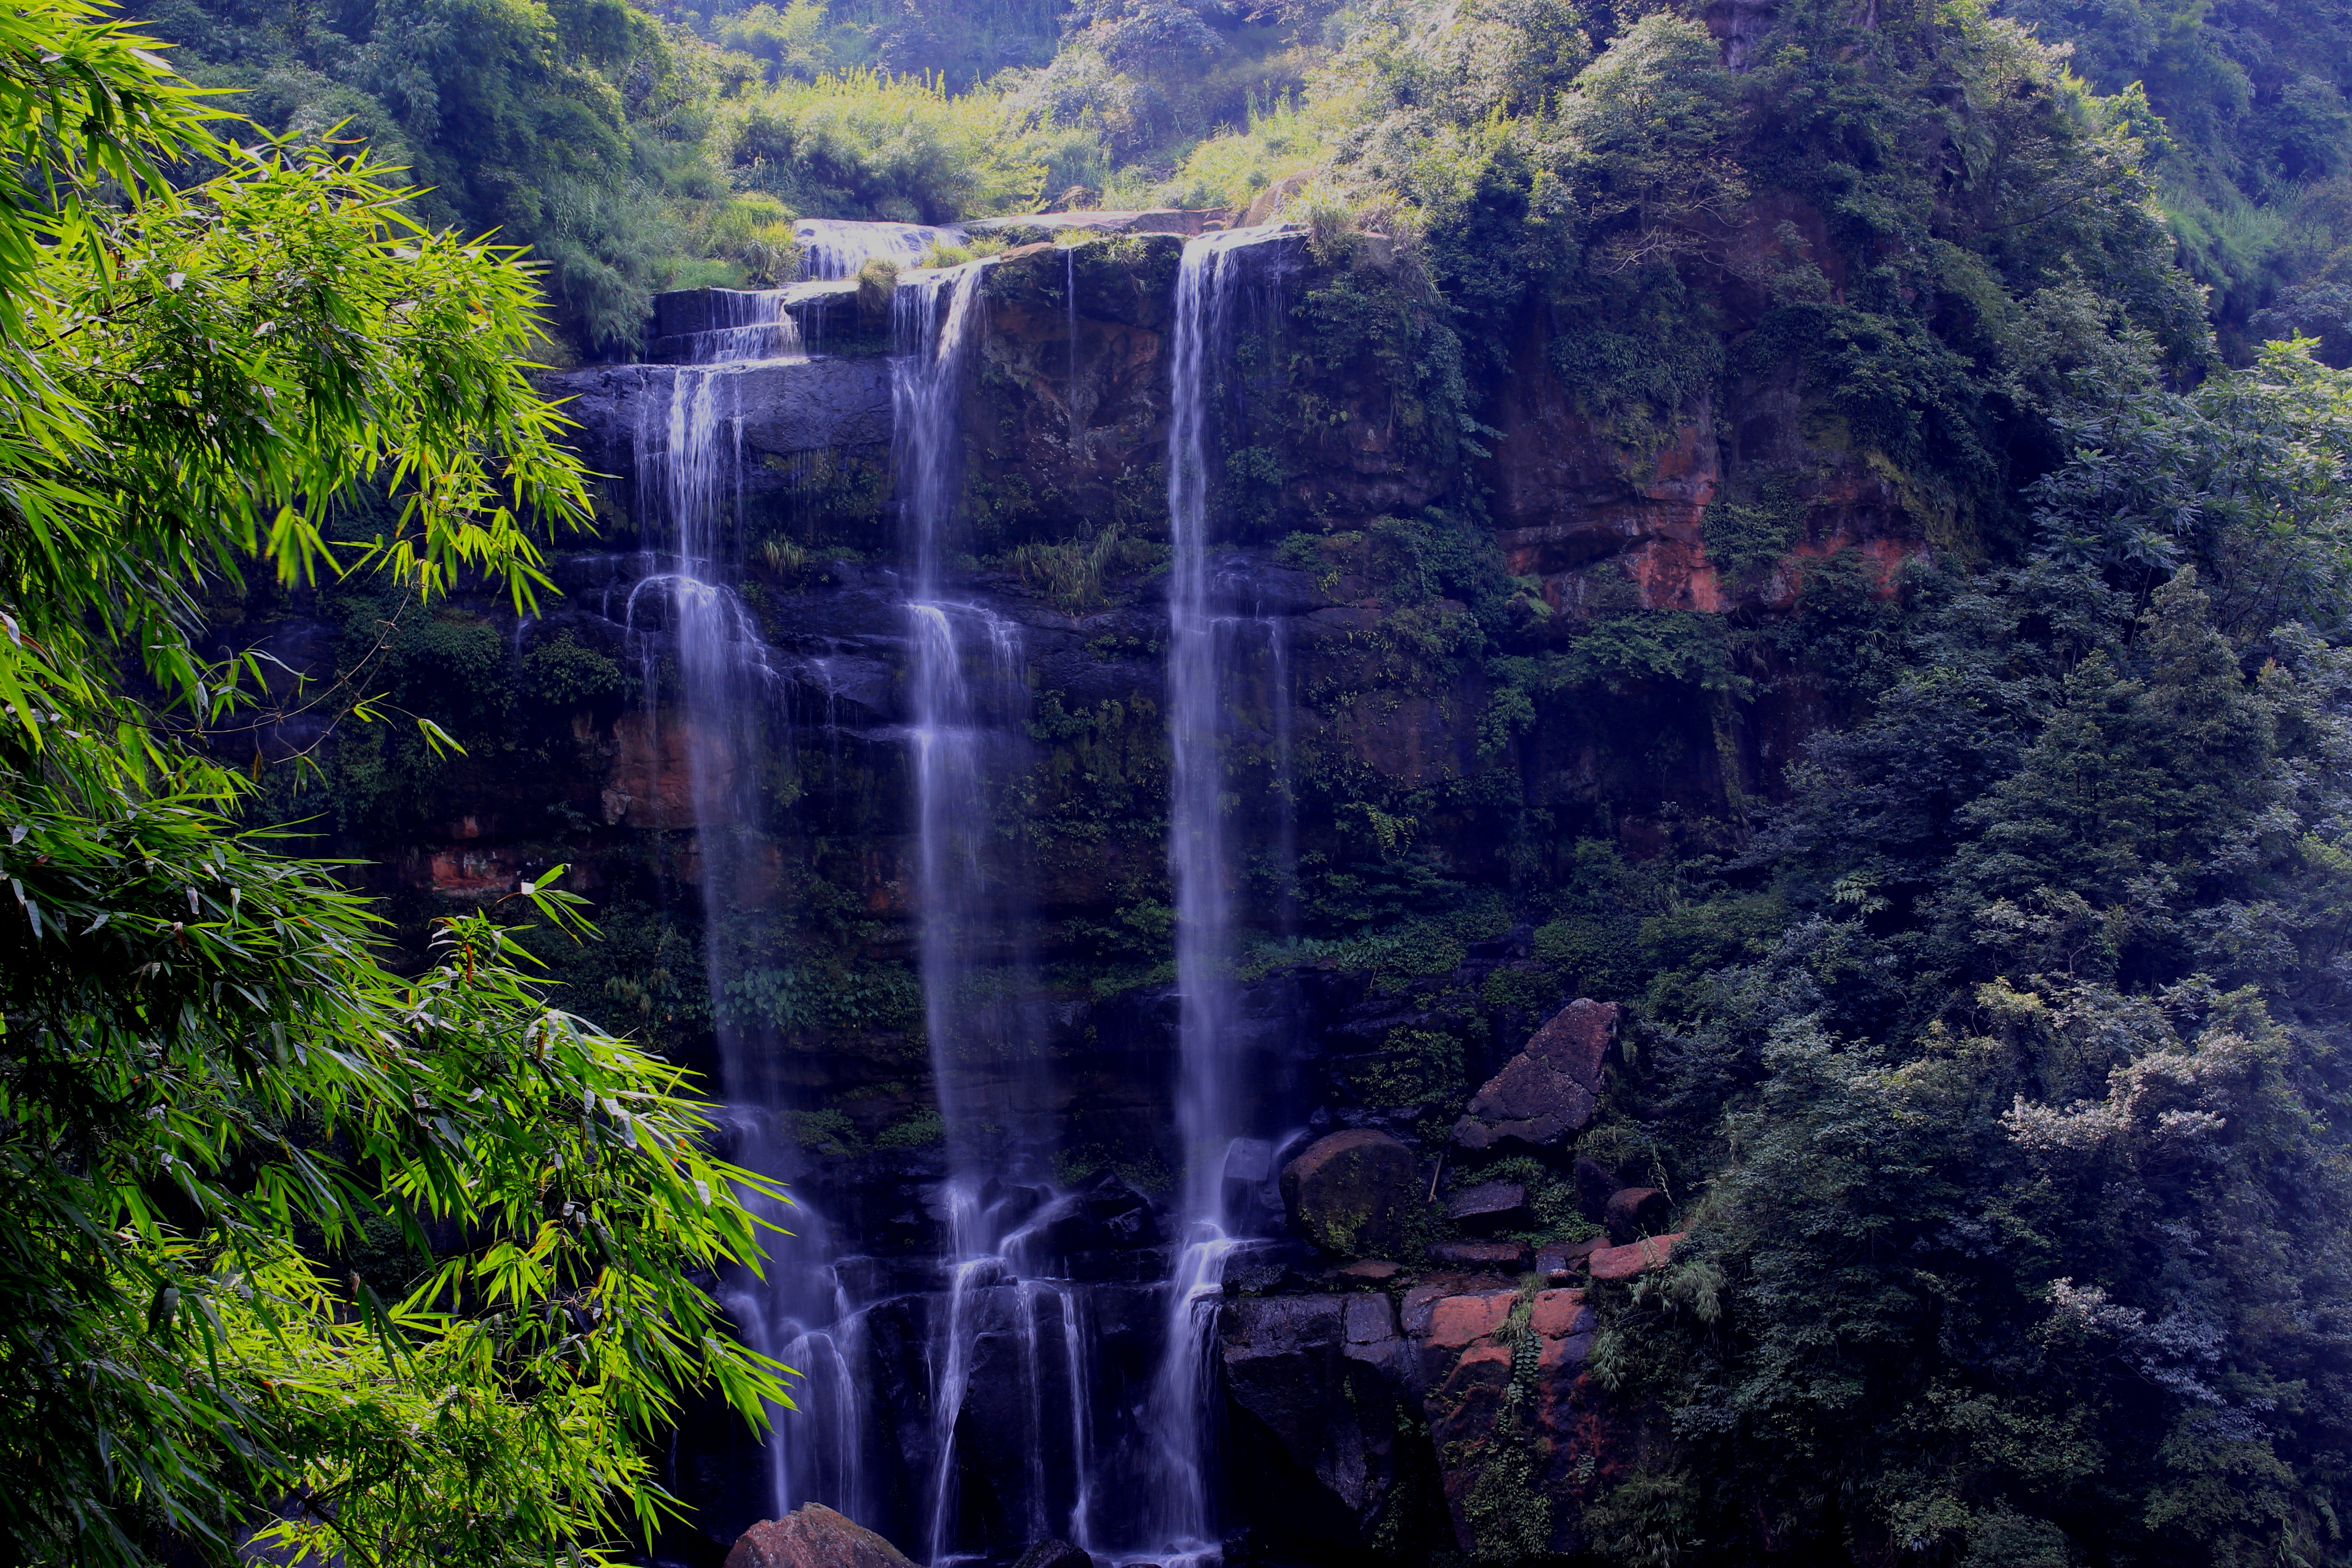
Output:
<svg viewBox="0 0 2352 1568">
<path fill-rule="evenodd" d="M 1169 1279 L 1167 1347 L 1152 1382 L 1152 1528 L 1157 1552 L 1214 1561 L 1214 1326 L 1225 1258 L 1225 1159 L 1247 1131 L 1240 1112 L 1232 985 L 1232 856 L 1225 842 L 1225 679 L 1209 567 L 1214 360 L 1240 270 L 1232 252 L 1263 230 L 1185 240 L 1176 270 L 1169 364 L 1169 879 L 1176 891 L 1176 1135 L 1183 1150 L 1183 1234 Z"/>
</svg>

